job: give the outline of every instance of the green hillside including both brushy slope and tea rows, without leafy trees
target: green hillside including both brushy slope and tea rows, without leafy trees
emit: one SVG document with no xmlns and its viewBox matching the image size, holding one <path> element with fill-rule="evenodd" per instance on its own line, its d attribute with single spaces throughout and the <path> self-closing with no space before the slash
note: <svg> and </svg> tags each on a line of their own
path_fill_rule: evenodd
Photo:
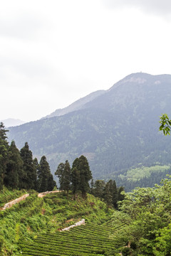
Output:
<svg viewBox="0 0 171 256">
<path fill-rule="evenodd" d="M 35 191 L 22 193 L 26 192 L 30 196 L 24 201 L 0 210 L 1 256 L 21 255 L 21 251 L 22 255 L 41 256 L 71 255 L 71 252 L 72 255 L 105 255 L 112 249 L 110 231 L 101 229 L 100 225 L 110 218 L 114 210 L 107 211 L 105 203 L 98 198 L 88 194 L 83 199 L 78 193 L 74 200 L 72 193 L 67 198 L 64 192 L 38 198 Z M 4 188 L 1 206 L 21 195 L 14 193 Z M 82 218 L 86 220 L 83 227 L 59 232 Z"/>
</svg>

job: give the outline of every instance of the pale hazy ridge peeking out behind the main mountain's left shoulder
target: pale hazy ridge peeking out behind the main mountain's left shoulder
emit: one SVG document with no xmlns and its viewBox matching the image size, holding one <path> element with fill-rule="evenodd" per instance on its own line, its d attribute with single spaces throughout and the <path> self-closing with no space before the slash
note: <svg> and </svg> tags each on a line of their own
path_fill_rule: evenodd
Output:
<svg viewBox="0 0 171 256">
<path fill-rule="evenodd" d="M 86 105 L 86 103 L 94 100 L 95 97 L 98 97 L 98 96 L 102 95 L 103 93 L 105 93 L 105 90 L 98 90 L 96 92 L 92 92 L 89 95 L 87 95 L 86 97 L 83 97 L 83 98 L 77 100 L 76 102 L 73 102 L 68 107 L 64 107 L 63 109 L 59 109 L 59 110 L 54 111 L 51 114 L 48 114 L 46 117 L 43 117 L 43 119 L 51 118 L 51 117 L 60 117 L 63 114 L 68 114 L 68 113 L 76 111 L 76 110 L 81 110 L 84 108 L 84 105 Z"/>
</svg>

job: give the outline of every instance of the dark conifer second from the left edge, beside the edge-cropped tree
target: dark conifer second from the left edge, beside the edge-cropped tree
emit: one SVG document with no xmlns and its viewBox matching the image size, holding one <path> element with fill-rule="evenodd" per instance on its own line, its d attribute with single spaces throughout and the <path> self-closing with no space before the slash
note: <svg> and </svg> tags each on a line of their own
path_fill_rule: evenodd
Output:
<svg viewBox="0 0 171 256">
<path fill-rule="evenodd" d="M 19 188 L 19 176 L 22 176 L 24 162 L 21 159 L 20 151 L 16 148 L 14 141 L 12 141 L 9 146 L 8 156 L 9 159 L 6 164 L 4 185 L 11 188 Z"/>
</svg>

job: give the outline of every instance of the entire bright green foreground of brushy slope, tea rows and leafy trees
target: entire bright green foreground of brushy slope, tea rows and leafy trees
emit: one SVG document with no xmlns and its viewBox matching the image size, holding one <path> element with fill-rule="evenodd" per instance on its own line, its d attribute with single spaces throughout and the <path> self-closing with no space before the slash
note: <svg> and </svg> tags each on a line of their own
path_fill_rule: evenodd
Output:
<svg viewBox="0 0 171 256">
<path fill-rule="evenodd" d="M 16 193 L 16 191 L 14 192 Z M 118 210 L 81 193 L 31 196 L 0 211 L 1 255 L 167 256 L 171 252 L 171 176 L 153 188 L 125 193 Z M 102 199 L 103 200 L 103 199 Z M 86 225 L 61 228 L 82 218 Z"/>
</svg>

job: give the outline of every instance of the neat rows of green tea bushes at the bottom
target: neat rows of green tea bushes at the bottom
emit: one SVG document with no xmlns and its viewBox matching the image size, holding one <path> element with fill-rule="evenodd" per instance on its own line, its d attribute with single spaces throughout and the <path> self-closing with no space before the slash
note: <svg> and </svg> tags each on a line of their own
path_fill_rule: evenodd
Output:
<svg viewBox="0 0 171 256">
<path fill-rule="evenodd" d="M 21 242 L 24 256 L 115 255 L 111 230 L 86 224 L 69 231 L 38 235 L 33 242 Z"/>
</svg>

